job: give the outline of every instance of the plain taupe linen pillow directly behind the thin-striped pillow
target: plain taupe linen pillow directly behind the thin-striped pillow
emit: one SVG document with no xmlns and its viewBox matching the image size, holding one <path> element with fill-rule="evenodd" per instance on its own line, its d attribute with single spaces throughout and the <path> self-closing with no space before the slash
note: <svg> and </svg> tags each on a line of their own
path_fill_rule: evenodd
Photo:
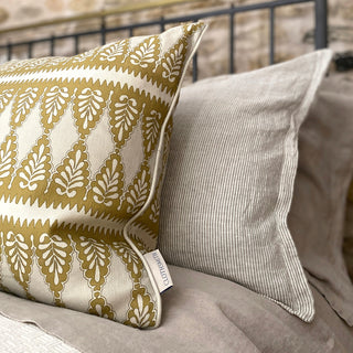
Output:
<svg viewBox="0 0 353 353">
<path fill-rule="evenodd" d="M 299 167 L 289 229 L 309 281 L 353 325 L 353 286 L 342 256 L 353 168 L 353 86 L 323 81 L 299 133 Z"/>
</svg>

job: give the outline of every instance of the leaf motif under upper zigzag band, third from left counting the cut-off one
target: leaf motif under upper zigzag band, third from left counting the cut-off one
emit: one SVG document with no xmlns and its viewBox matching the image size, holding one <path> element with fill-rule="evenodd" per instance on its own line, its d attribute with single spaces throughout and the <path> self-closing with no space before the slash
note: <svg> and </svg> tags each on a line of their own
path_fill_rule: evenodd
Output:
<svg viewBox="0 0 353 353">
<path fill-rule="evenodd" d="M 42 101 L 42 124 L 51 129 L 58 121 L 71 99 L 67 87 L 53 86 L 44 94 Z"/>
</svg>

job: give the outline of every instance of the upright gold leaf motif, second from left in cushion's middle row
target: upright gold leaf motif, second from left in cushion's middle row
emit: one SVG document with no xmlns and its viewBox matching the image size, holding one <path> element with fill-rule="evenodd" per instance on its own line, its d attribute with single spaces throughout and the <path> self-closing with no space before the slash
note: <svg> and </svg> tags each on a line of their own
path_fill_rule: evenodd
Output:
<svg viewBox="0 0 353 353">
<path fill-rule="evenodd" d="M 19 186 L 34 191 L 39 184 L 45 183 L 50 169 L 50 152 L 46 137 L 42 137 L 32 152 L 28 156 L 18 170 Z"/>
</svg>

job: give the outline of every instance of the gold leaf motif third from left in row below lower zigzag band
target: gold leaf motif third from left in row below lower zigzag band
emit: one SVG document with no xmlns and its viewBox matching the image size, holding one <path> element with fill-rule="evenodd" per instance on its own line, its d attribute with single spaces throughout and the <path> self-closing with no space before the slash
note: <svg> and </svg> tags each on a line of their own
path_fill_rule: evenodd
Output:
<svg viewBox="0 0 353 353">
<path fill-rule="evenodd" d="M 103 240 L 84 236 L 75 240 L 75 246 L 85 278 L 94 291 L 100 290 L 109 272 L 109 247 Z"/>
</svg>

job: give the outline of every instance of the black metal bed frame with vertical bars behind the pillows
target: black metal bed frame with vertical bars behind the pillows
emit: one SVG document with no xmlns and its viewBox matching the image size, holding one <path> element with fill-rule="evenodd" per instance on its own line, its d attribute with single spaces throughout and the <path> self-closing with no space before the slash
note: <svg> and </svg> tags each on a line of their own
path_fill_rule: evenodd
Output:
<svg viewBox="0 0 353 353">
<path fill-rule="evenodd" d="M 249 12 L 255 10 L 268 10 L 269 11 L 269 63 L 275 63 L 275 22 L 276 22 L 276 9 L 285 6 L 292 6 L 299 3 L 313 3 L 313 14 L 314 14 L 314 47 L 317 50 L 328 46 L 328 3 L 327 0 L 275 0 L 264 3 L 255 3 L 247 6 L 231 6 L 229 8 L 205 11 L 195 14 L 173 17 L 173 18 L 159 18 L 154 21 L 147 21 L 141 23 L 131 23 L 128 25 L 119 25 L 107 28 L 106 18 L 101 17 L 100 28 L 97 30 L 69 33 L 63 35 L 51 35 L 47 38 L 36 39 L 25 42 L 15 42 L 0 45 L 0 51 L 7 53 L 7 60 L 12 58 L 13 49 L 15 46 L 28 46 L 28 57 L 32 57 L 33 47 L 38 43 L 47 42 L 50 45 L 50 54 L 55 55 L 55 42 L 58 40 L 73 39 L 74 40 L 74 53 L 79 52 L 79 39 L 87 35 L 100 35 L 101 45 L 106 44 L 106 35 L 111 32 L 128 31 L 129 35 L 133 35 L 136 29 L 158 25 L 160 31 L 164 31 L 167 24 L 175 24 L 180 22 L 196 22 L 199 20 L 215 18 L 220 15 L 229 17 L 229 73 L 233 74 L 235 71 L 234 57 L 235 57 L 235 26 L 236 26 L 236 14 L 243 12 Z M 197 79 L 197 55 L 193 57 L 193 81 Z"/>
</svg>

